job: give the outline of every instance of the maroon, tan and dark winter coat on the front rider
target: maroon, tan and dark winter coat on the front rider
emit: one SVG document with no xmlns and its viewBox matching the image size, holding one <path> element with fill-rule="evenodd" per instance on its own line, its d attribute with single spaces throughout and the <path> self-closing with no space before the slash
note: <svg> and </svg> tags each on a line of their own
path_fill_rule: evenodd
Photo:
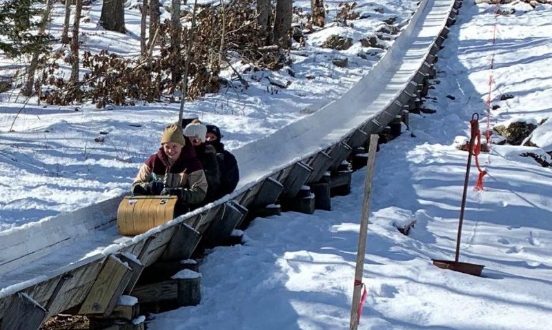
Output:
<svg viewBox="0 0 552 330">
<path fill-rule="evenodd" d="M 186 144 L 174 164 L 170 165 L 163 147 L 156 154 L 146 160 L 132 183 L 132 193 L 144 191 L 150 181 L 157 179 L 165 183 L 166 187 L 185 188 L 180 202 L 188 205 L 200 204 L 208 189 L 207 179 L 201 163 L 195 156 L 192 143 L 186 138 Z M 141 188 L 141 189 L 140 189 Z"/>
</svg>

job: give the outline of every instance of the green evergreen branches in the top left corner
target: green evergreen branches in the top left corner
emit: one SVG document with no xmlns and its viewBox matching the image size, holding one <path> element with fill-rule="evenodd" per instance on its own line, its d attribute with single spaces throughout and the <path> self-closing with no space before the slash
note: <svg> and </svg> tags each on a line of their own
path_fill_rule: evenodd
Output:
<svg viewBox="0 0 552 330">
<path fill-rule="evenodd" d="M 14 58 L 46 52 L 52 37 L 38 34 L 44 0 L 5 0 L 0 6 L 0 51 Z"/>
</svg>

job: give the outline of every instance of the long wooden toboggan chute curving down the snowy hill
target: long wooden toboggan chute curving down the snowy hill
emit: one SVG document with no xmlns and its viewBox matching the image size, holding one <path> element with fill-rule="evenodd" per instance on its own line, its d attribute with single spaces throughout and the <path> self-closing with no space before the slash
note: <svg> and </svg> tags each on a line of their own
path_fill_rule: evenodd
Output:
<svg viewBox="0 0 552 330">
<path fill-rule="evenodd" d="M 45 237 L 30 237 L 26 229 L 0 235 L 0 330 L 38 329 L 46 318 L 68 309 L 88 313 L 86 300 L 99 285 L 101 273 L 123 261 L 126 267 L 115 267 L 110 274 L 115 296 L 101 307 L 102 313 L 109 313 L 113 299 L 132 292 L 144 267 L 157 260 L 189 258 L 199 240 L 216 242 L 230 236 L 248 209 L 274 203 L 280 196 L 296 196 L 303 185 L 319 182 L 353 149 L 366 145 L 370 134 L 382 132 L 408 110 L 434 73 L 437 51 L 460 6 L 460 0 L 422 0 L 393 46 L 342 98 L 235 150 L 243 175 L 230 196 L 134 238 L 115 232 L 113 218 L 121 196 L 61 214 L 46 224 Z M 77 236 L 63 231 L 79 218 L 95 222 L 78 223 Z M 107 233 L 101 236 L 105 241 L 98 242 L 102 249 L 79 251 L 81 257 L 65 255 L 95 231 Z M 33 249 L 25 240 L 36 240 Z M 67 260 L 59 256 L 60 249 L 65 249 Z"/>
</svg>

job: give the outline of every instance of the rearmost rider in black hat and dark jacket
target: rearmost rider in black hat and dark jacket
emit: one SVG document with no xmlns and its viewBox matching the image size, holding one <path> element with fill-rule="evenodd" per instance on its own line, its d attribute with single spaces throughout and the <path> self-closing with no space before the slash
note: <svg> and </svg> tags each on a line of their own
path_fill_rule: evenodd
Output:
<svg viewBox="0 0 552 330">
<path fill-rule="evenodd" d="M 239 181 L 239 169 L 237 161 L 233 154 L 224 149 L 224 143 L 221 142 L 223 135 L 220 133 L 219 127 L 216 125 L 206 125 L 206 143 L 213 145 L 217 150 L 217 160 L 221 169 L 221 182 L 218 189 L 218 198 L 230 194 L 236 189 Z"/>
</svg>

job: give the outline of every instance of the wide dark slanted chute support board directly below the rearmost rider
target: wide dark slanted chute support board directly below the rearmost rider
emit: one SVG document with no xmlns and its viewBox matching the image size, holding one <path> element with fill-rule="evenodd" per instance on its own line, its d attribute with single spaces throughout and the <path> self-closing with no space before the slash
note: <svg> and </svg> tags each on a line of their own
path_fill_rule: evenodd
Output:
<svg viewBox="0 0 552 330">
<path fill-rule="evenodd" d="M 213 223 L 205 231 L 201 240 L 202 246 L 211 249 L 219 245 L 226 245 L 230 234 L 243 218 L 242 212 L 232 204 L 225 203 L 221 207 L 219 216 L 213 220 Z"/>
</svg>

